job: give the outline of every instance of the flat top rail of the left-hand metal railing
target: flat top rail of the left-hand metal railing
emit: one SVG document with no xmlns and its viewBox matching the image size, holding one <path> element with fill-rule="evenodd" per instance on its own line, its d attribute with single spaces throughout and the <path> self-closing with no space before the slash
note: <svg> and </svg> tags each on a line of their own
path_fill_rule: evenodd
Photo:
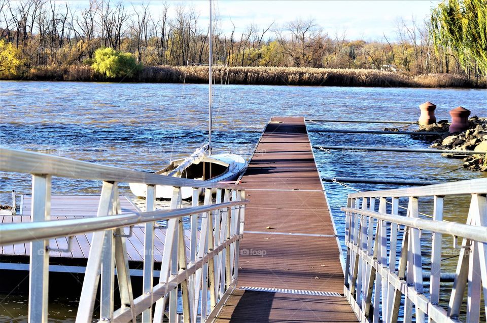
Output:
<svg viewBox="0 0 487 323">
<path fill-rule="evenodd" d="M 0 169 L 7 172 L 38 175 L 49 174 L 51 176 L 81 178 L 87 180 L 131 182 L 179 187 L 239 189 L 239 187 L 234 184 L 175 178 L 9 148 L 0 148 Z"/>
</svg>

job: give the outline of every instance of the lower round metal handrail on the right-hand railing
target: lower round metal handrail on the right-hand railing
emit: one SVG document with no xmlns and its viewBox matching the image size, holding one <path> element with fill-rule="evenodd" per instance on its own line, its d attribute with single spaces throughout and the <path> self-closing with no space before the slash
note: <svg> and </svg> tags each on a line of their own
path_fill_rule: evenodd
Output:
<svg viewBox="0 0 487 323">
<path fill-rule="evenodd" d="M 444 222 L 444 221 L 426 220 L 421 218 L 409 218 L 400 215 L 366 211 L 366 210 L 360 210 L 354 208 L 341 208 L 341 211 L 366 215 L 374 219 L 405 225 L 409 228 L 416 228 L 421 230 L 435 231 L 438 233 L 451 234 L 454 236 L 459 236 L 459 237 L 461 236 L 461 237 L 468 238 L 470 240 L 487 243 L 487 227 L 478 227 L 478 226 L 462 224 L 457 222 Z"/>
</svg>

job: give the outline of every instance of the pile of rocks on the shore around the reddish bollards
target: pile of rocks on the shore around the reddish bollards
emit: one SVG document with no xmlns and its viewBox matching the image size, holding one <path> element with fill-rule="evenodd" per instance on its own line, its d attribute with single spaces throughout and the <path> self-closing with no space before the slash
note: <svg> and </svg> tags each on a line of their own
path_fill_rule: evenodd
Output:
<svg viewBox="0 0 487 323">
<path fill-rule="evenodd" d="M 448 150 L 487 151 L 487 118 L 477 116 L 469 118 L 467 130 L 448 133 L 448 120 L 436 124 L 420 126 L 418 131 L 438 133 L 438 136 L 418 136 L 421 139 L 433 140 L 430 147 Z M 446 132 L 446 133 L 445 133 Z M 463 167 L 470 171 L 487 171 L 487 154 L 473 154 L 467 157 L 456 154 L 443 154 L 450 158 L 463 158 Z"/>
</svg>

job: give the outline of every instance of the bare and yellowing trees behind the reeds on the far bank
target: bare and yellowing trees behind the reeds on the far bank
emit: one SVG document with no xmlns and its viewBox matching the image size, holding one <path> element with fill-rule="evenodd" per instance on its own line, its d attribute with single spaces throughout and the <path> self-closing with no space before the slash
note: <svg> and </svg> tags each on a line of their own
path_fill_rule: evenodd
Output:
<svg viewBox="0 0 487 323">
<path fill-rule="evenodd" d="M 458 2 L 458 0 L 456 0 Z M 485 0 L 464 0 L 485 2 Z M 91 65 L 99 48 L 133 54 L 144 66 L 204 64 L 208 26 L 191 5 L 162 3 L 134 6 L 114 0 L 90 0 L 85 8 L 49 0 L 0 2 L 0 35 L 15 48 L 25 68 Z M 169 6 L 174 14 L 169 16 Z M 245 31 L 224 33 L 213 21 L 214 62 L 228 66 L 361 68 L 411 74 L 455 73 L 478 77 L 475 57 L 440 43 L 437 21 L 398 19 L 396 38 L 350 40 L 346 31 L 327 32 L 315 19 L 296 19 Z M 465 64 L 464 61 L 468 61 Z"/>
</svg>

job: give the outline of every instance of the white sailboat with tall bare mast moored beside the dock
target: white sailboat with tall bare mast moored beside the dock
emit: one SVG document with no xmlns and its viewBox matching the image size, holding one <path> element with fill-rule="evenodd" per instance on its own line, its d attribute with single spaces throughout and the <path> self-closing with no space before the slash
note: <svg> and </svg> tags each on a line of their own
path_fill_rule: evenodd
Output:
<svg viewBox="0 0 487 323">
<path fill-rule="evenodd" d="M 194 151 L 189 157 L 173 160 L 169 165 L 155 172 L 155 174 L 197 179 L 211 182 L 231 182 L 238 179 L 247 166 L 247 161 L 242 156 L 233 153 L 212 154 L 212 1 L 210 0 L 210 57 L 208 63 L 208 142 Z M 136 196 L 145 197 L 147 186 L 145 184 L 130 183 L 130 190 Z M 156 198 L 171 198 L 173 187 L 157 185 Z M 200 192 L 201 194 L 202 192 Z M 191 187 L 182 187 L 183 199 L 193 196 Z"/>
</svg>

